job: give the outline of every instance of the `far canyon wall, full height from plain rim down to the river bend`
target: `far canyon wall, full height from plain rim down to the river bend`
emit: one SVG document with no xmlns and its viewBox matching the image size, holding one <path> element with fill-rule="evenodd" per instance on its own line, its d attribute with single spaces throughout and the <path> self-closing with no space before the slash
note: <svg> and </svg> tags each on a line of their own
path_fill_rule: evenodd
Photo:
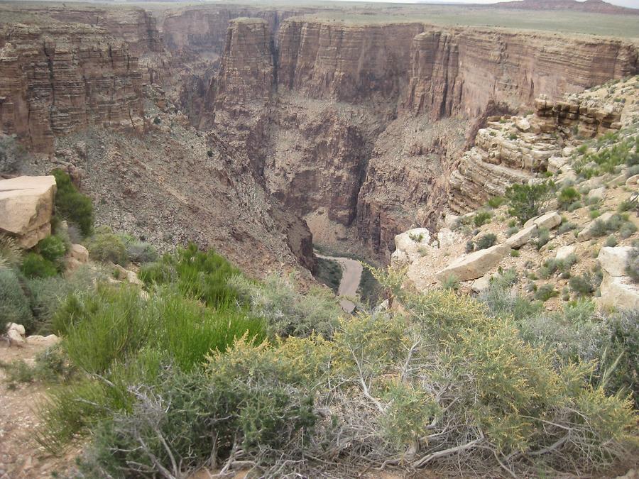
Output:
<svg viewBox="0 0 639 479">
<path fill-rule="evenodd" d="M 245 47 L 263 52 L 253 62 L 269 65 L 270 80 L 268 40 L 263 29 L 254 36 Z M 361 241 L 381 258 L 398 231 L 435 224 L 488 115 L 637 72 L 637 45 L 586 36 L 302 17 L 283 21 L 277 38 L 276 88 L 247 80 L 237 93 L 240 105 L 258 94 L 263 106 L 240 118 L 209 102 L 202 116 L 249 153 L 317 238 Z"/>
</svg>

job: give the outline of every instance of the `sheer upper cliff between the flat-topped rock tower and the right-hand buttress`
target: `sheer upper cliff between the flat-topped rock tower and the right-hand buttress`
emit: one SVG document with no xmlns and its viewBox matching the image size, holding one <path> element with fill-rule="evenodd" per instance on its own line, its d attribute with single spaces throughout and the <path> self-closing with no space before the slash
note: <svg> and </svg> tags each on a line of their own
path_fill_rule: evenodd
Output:
<svg viewBox="0 0 639 479">
<path fill-rule="evenodd" d="M 279 34 L 278 83 L 305 97 L 397 99 L 418 23 L 345 25 L 288 20 Z"/>
</svg>

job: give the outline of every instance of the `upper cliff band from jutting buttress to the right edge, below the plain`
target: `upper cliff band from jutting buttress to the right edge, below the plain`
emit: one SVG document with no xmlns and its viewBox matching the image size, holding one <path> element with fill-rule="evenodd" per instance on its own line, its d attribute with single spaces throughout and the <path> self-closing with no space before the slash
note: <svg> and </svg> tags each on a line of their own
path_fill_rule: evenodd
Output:
<svg viewBox="0 0 639 479">
<path fill-rule="evenodd" d="M 539 94 L 559 97 L 637 71 L 637 48 L 623 40 L 432 29 L 412 45 L 405 106 L 442 118 L 477 116 L 489 102 L 520 109 Z"/>
</svg>

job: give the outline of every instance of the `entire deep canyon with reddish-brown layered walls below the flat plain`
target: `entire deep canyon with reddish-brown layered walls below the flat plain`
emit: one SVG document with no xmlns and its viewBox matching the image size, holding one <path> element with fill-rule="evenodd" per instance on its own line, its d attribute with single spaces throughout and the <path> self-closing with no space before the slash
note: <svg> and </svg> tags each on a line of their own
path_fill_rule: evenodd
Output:
<svg viewBox="0 0 639 479">
<path fill-rule="evenodd" d="M 116 227 L 312 270 L 312 241 L 386 262 L 396 234 L 484 201 L 464 152 L 491 116 L 639 71 L 633 38 L 342 13 L 6 4 L 1 130 Z"/>
</svg>

